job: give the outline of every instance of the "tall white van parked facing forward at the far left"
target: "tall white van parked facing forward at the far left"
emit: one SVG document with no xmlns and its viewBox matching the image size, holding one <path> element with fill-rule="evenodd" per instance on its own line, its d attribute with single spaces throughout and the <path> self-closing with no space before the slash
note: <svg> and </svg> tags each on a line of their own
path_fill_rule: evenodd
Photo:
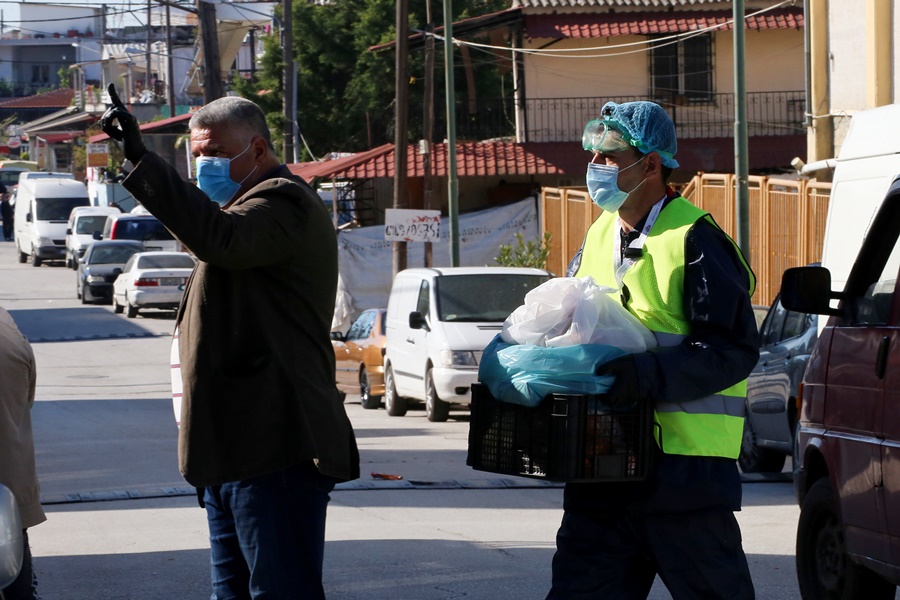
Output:
<svg viewBox="0 0 900 600">
<path fill-rule="evenodd" d="M 66 258 L 66 228 L 72 209 L 89 206 L 84 184 L 74 179 L 19 178 L 15 241 L 19 262 L 31 264 Z"/>
</svg>

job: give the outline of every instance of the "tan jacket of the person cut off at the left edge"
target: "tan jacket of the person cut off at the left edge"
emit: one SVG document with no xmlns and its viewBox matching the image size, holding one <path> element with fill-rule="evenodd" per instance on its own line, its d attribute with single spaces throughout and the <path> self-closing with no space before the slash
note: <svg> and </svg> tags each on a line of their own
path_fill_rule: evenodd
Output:
<svg viewBox="0 0 900 600">
<path fill-rule="evenodd" d="M 0 308 L 0 483 L 16 497 L 26 529 L 47 520 L 41 508 L 31 432 L 36 377 L 31 345 Z"/>
</svg>

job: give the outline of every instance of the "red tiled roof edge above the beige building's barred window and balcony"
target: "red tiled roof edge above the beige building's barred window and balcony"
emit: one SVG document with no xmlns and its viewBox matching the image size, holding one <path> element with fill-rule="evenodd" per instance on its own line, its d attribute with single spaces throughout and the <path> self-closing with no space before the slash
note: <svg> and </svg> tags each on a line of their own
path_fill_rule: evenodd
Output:
<svg viewBox="0 0 900 600">
<path fill-rule="evenodd" d="M 697 10 L 684 12 L 565 13 L 526 15 L 525 33 L 533 39 L 598 38 L 616 35 L 653 35 L 696 31 L 723 25 L 731 11 Z M 772 10 L 746 19 L 747 29 L 799 29 L 803 27 L 801 8 Z"/>
</svg>

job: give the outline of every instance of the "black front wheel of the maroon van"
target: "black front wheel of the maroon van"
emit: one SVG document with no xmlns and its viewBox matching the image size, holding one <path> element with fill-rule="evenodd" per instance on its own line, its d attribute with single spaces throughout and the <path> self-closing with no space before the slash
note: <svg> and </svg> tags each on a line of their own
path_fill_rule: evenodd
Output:
<svg viewBox="0 0 900 600">
<path fill-rule="evenodd" d="M 797 581 L 803 598 L 882 600 L 893 599 L 897 591 L 896 586 L 850 560 L 828 477 L 813 484 L 800 509 Z"/>
</svg>

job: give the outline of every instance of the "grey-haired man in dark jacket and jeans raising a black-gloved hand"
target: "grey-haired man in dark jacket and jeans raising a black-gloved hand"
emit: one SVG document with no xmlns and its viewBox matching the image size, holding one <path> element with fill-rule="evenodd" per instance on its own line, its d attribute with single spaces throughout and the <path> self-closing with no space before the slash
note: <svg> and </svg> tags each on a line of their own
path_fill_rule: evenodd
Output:
<svg viewBox="0 0 900 600">
<path fill-rule="evenodd" d="M 215 100 L 190 120 L 198 185 L 149 151 L 110 85 L 101 126 L 123 182 L 199 262 L 172 346 L 178 461 L 206 508 L 212 598 L 324 598 L 325 514 L 359 454 L 334 386 L 337 243 L 275 157 L 265 115 Z"/>
</svg>

